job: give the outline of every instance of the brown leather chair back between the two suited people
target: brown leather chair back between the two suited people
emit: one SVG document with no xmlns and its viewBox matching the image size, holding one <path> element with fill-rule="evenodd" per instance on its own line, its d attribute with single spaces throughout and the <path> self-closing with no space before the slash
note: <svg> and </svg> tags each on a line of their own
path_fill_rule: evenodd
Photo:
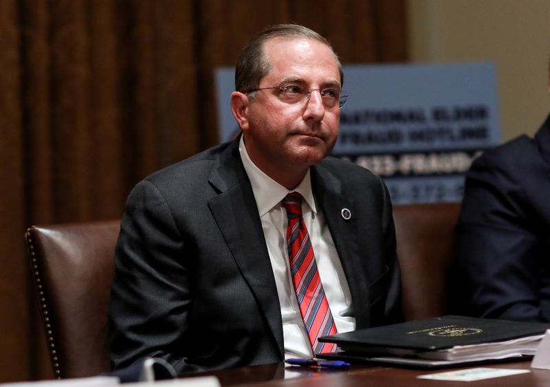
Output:
<svg viewBox="0 0 550 387">
<path fill-rule="evenodd" d="M 449 269 L 454 258 L 460 203 L 393 207 L 406 320 L 449 311 Z"/>
</svg>

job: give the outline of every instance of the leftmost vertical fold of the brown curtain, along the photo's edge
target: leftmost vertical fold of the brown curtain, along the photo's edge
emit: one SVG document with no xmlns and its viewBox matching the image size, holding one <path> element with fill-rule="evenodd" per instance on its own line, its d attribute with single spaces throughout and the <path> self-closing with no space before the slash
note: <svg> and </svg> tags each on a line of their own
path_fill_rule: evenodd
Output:
<svg viewBox="0 0 550 387">
<path fill-rule="evenodd" d="M 0 2 L 0 364 L 8 377 L 25 375 L 32 349 L 28 268 L 22 265 L 25 168 L 17 2 Z M 17 359 L 16 362 L 13 359 Z"/>
</svg>

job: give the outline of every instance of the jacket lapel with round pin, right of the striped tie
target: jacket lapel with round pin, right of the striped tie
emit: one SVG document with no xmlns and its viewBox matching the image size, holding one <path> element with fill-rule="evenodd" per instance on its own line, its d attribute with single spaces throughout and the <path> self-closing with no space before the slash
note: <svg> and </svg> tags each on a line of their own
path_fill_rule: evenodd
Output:
<svg viewBox="0 0 550 387">
<path fill-rule="evenodd" d="M 358 250 L 358 223 L 362 219 L 354 216 L 359 214 L 356 203 L 351 197 L 344 196 L 341 181 L 323 168 L 322 164 L 311 168 L 311 184 L 346 275 L 356 326 L 365 326 L 369 321 L 369 308 L 366 307 L 369 305 L 369 287 L 365 280 L 367 277 L 358 273 L 364 267 L 361 262 L 364 254 L 359 254 Z M 350 219 L 344 219 L 342 209 L 351 212 Z"/>
</svg>

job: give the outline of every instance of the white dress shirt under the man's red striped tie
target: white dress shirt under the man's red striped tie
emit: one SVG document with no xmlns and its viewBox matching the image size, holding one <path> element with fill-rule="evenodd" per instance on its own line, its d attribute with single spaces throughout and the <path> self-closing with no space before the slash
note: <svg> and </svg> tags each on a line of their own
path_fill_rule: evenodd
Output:
<svg viewBox="0 0 550 387">
<path fill-rule="evenodd" d="M 239 152 L 252 184 L 267 251 L 270 254 L 279 303 L 281 304 L 285 358 L 312 357 L 311 344 L 300 314 L 300 307 L 292 283 L 292 274 L 290 274 L 287 247 L 287 212 L 283 203 L 281 203 L 283 198 L 290 192 L 299 192 L 305 199 L 302 203 L 303 218 L 314 248 L 321 283 L 338 332 L 353 331 L 355 329 L 355 316 L 353 305 L 351 305 L 351 293 L 340 258 L 338 258 L 338 252 L 336 252 L 325 218 L 316 209 L 309 170 L 298 187 L 289 191 L 265 175 L 252 162 L 246 151 L 243 137 L 241 137 L 239 144 Z"/>
</svg>

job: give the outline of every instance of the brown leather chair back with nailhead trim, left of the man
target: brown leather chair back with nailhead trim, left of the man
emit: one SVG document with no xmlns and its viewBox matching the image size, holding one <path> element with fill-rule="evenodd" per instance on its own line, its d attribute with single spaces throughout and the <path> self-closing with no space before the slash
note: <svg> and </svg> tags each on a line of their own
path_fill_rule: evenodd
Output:
<svg viewBox="0 0 550 387">
<path fill-rule="evenodd" d="M 32 226 L 25 233 L 55 377 L 109 371 L 107 307 L 120 221 Z"/>
</svg>

